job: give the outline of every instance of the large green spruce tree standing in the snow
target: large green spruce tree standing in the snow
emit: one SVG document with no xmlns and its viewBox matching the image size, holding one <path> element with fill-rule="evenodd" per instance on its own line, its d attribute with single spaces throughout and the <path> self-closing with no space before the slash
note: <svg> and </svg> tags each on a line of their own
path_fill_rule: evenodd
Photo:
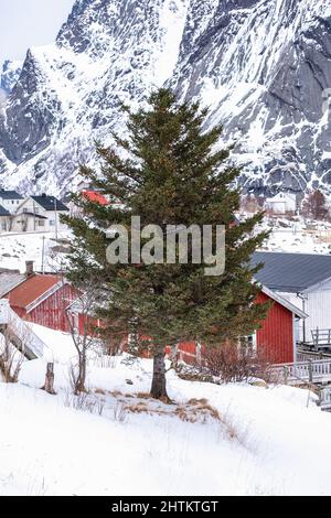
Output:
<svg viewBox="0 0 331 518">
<path fill-rule="evenodd" d="M 107 290 L 99 315 L 117 334 L 135 322 L 139 336 L 149 337 L 153 356 L 151 395 L 167 398 L 164 347 L 181 341 L 222 346 L 253 333 L 266 315 L 254 304 L 260 288 L 254 282 L 249 258 L 266 238 L 253 230 L 263 213 L 234 224 L 239 171 L 226 165 L 228 149 L 216 149 L 222 127 L 203 131 L 207 110 L 199 104 L 179 104 L 169 89 L 153 93 L 147 109 L 128 115 L 127 138 L 114 136 L 116 145 L 97 145 L 100 171 L 82 166 L 94 188 L 120 202 L 102 206 L 75 195 L 84 217 L 65 217 L 75 239 L 70 277 L 75 281 L 94 269 Z M 141 226 L 192 224 L 226 228 L 226 268 L 222 276 L 205 276 L 205 263 L 109 265 L 106 229 L 128 228 L 131 216 Z M 142 240 L 141 246 L 146 241 Z M 190 259 L 192 250 L 190 248 Z"/>
</svg>

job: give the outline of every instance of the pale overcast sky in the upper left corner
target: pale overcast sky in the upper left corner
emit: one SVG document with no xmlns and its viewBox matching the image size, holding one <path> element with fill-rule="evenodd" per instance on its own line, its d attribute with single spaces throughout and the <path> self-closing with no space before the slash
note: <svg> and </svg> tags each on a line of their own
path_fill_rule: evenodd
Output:
<svg viewBox="0 0 331 518">
<path fill-rule="evenodd" d="M 52 43 L 74 0 L 0 0 L 0 64 Z"/>
</svg>

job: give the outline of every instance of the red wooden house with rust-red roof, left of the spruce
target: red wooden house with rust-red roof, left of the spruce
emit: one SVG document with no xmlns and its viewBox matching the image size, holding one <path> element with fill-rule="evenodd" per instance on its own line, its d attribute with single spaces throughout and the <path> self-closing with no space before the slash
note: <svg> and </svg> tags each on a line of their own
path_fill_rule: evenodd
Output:
<svg viewBox="0 0 331 518">
<path fill-rule="evenodd" d="M 24 273 L 0 272 L 0 296 L 21 319 L 68 331 L 66 310 L 77 295 L 62 276 L 35 273 L 33 262 L 26 261 Z"/>
</svg>

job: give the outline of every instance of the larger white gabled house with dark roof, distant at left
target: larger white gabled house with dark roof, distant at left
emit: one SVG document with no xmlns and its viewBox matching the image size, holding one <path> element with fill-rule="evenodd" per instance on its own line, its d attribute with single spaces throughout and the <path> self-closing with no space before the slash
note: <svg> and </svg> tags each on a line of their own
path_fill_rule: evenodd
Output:
<svg viewBox="0 0 331 518">
<path fill-rule="evenodd" d="M 54 196 L 28 196 L 15 213 L 13 231 L 53 231 L 66 229 L 61 215 L 67 214 L 68 207 Z"/>
</svg>

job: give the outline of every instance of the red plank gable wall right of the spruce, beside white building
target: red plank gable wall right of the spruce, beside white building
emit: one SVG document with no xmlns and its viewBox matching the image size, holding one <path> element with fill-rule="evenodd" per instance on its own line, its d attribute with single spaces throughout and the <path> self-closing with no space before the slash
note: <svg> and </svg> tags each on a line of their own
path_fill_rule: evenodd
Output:
<svg viewBox="0 0 331 518">
<path fill-rule="evenodd" d="M 257 303 L 268 302 L 270 298 L 260 293 Z M 257 349 L 264 352 L 273 364 L 286 364 L 295 360 L 293 314 L 278 302 L 269 310 L 261 328 L 257 331 Z"/>
</svg>

